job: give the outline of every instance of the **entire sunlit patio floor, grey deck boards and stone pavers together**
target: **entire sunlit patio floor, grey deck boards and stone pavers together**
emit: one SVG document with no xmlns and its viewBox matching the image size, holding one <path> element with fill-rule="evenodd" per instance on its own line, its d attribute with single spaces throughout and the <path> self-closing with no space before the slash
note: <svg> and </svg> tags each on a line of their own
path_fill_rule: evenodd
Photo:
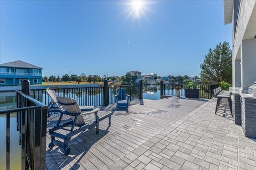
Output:
<svg viewBox="0 0 256 170">
<path fill-rule="evenodd" d="M 216 100 L 144 100 L 115 112 L 70 141 L 71 152 L 46 148 L 47 169 L 256 169 L 255 139 L 244 137 Z M 226 112 L 222 117 L 221 112 Z M 49 120 L 49 127 L 54 118 Z M 47 138 L 47 143 L 50 138 Z"/>
</svg>

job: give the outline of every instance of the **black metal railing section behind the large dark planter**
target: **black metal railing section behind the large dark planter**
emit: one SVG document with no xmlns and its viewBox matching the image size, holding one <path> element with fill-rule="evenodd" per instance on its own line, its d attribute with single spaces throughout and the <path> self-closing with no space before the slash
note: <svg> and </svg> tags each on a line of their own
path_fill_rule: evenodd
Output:
<svg viewBox="0 0 256 170">
<path fill-rule="evenodd" d="M 185 96 L 185 89 L 188 87 L 187 84 L 164 84 L 163 83 L 163 96 L 176 96 L 176 87 L 180 87 L 180 96 Z M 219 87 L 219 84 L 198 84 L 199 97 L 211 99 L 213 97 L 212 90 Z"/>
</svg>

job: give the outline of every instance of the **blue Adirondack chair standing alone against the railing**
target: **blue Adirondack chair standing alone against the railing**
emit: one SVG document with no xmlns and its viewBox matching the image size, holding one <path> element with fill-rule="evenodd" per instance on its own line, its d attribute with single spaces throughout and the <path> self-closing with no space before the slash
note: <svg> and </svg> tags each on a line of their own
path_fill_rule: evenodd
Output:
<svg viewBox="0 0 256 170">
<path fill-rule="evenodd" d="M 126 95 L 125 89 L 116 90 L 116 109 L 127 109 L 129 107 L 129 100 L 131 100 L 130 95 Z"/>
</svg>

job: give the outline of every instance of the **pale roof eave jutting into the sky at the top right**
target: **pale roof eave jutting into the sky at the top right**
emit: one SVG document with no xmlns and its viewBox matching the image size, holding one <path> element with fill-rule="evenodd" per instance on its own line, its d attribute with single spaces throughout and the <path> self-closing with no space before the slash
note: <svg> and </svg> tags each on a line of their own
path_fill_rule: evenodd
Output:
<svg viewBox="0 0 256 170">
<path fill-rule="evenodd" d="M 223 0 L 224 24 L 232 22 L 234 0 Z"/>
</svg>

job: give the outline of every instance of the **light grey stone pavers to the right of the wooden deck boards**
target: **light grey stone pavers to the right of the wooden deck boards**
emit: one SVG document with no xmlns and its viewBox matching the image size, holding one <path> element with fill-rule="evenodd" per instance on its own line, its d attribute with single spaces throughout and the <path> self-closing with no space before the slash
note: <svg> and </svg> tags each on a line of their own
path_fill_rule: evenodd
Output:
<svg viewBox="0 0 256 170">
<path fill-rule="evenodd" d="M 141 123 L 138 126 L 141 126 L 140 132 L 142 133 L 144 131 L 145 133 L 147 133 L 147 135 L 141 134 L 143 138 L 139 138 L 139 132 L 137 133 L 134 131 L 134 134 L 132 134 L 132 131 L 129 131 L 129 134 L 133 136 L 135 135 L 135 137 L 138 138 L 134 137 L 134 140 L 129 140 L 126 139 L 126 137 L 122 137 L 123 139 L 120 139 L 121 141 L 125 142 L 125 140 L 127 140 L 131 142 L 127 142 L 127 148 L 123 144 L 123 148 L 119 147 L 119 145 L 121 145 L 120 142 L 112 140 L 114 142 L 113 144 L 111 144 L 111 146 L 113 148 L 115 148 L 116 146 L 117 153 L 115 155 L 117 155 L 118 157 L 115 157 L 115 160 L 113 161 L 114 158 L 111 158 L 110 155 L 110 164 L 108 164 L 107 166 L 102 166 L 102 168 L 99 168 L 98 166 L 94 167 L 97 167 L 98 169 L 110 170 L 256 169 L 256 140 L 244 137 L 241 126 L 234 124 L 233 117 L 230 117 L 230 113 L 228 110 L 220 110 L 217 115 L 215 115 L 215 104 L 215 99 L 205 101 L 202 105 L 200 104 L 201 106 L 197 106 L 195 109 L 193 109 L 193 111 L 189 111 L 188 109 L 187 111 L 189 112 L 183 115 L 181 113 L 185 112 L 186 108 L 184 108 L 182 112 L 177 109 L 177 112 L 180 112 L 180 117 L 175 114 L 173 114 L 172 116 L 172 113 L 170 113 L 170 116 L 166 116 L 168 115 L 167 111 L 169 110 L 166 109 L 166 107 L 164 109 L 159 108 L 161 109 L 161 112 L 163 112 L 163 114 L 153 115 L 153 117 L 147 116 L 146 118 L 148 118 L 148 121 L 151 120 L 152 123 L 148 126 Z M 137 109 L 139 109 L 139 107 L 142 106 L 138 105 L 136 107 Z M 156 105 L 154 107 L 159 107 L 159 105 Z M 137 111 L 139 112 L 139 110 Z M 175 112 L 175 109 L 173 111 Z M 155 112 L 157 112 L 157 110 Z M 158 110 L 158 112 L 160 111 Z M 226 117 L 222 117 L 222 112 L 226 112 Z M 130 116 L 131 115 L 133 114 L 130 114 Z M 135 117 L 138 117 L 138 115 L 134 115 Z M 157 116 L 165 119 L 157 120 L 155 122 L 157 123 L 157 125 L 154 126 L 154 118 L 156 118 Z M 171 121 L 172 117 L 175 117 L 177 120 L 173 118 L 175 122 Z M 142 117 L 138 118 L 142 119 Z M 162 128 L 160 128 L 161 121 L 163 121 Z M 145 129 L 142 129 L 142 127 L 144 126 L 147 126 L 147 131 Z M 134 126 L 131 126 L 130 128 L 133 127 Z M 150 127 L 152 127 L 152 133 L 150 133 Z M 110 132 L 112 130 L 113 129 L 109 129 Z M 111 137 L 115 136 L 112 135 Z M 107 143 L 100 144 L 103 138 L 95 141 L 94 143 L 91 143 L 91 148 L 87 149 L 91 150 L 94 155 L 97 155 L 97 152 L 93 151 L 93 149 L 96 150 L 97 147 L 102 146 L 110 148 L 106 145 Z M 107 138 L 108 142 L 111 142 L 111 138 Z M 117 145 L 117 143 L 119 144 Z M 74 143 L 74 145 L 75 144 L 76 143 Z M 133 144 L 135 146 L 133 146 Z M 85 143 L 81 143 L 81 145 L 85 145 Z M 111 149 L 113 150 L 113 148 Z M 123 152 L 119 154 L 118 150 L 121 149 L 123 149 Z M 108 150 L 106 150 L 106 152 L 107 151 Z M 58 154 L 58 152 L 59 151 L 55 151 L 53 153 Z M 106 152 L 101 151 L 102 154 L 106 154 Z M 88 154 L 88 152 L 86 154 Z M 52 157 L 55 159 L 54 156 Z M 58 157 L 61 156 L 58 155 Z M 100 157 L 100 155 L 97 155 L 97 157 Z M 63 158 L 61 159 L 66 158 L 65 156 L 63 156 Z M 79 161 L 80 160 L 81 159 L 79 159 Z M 84 163 L 81 163 L 81 165 L 87 163 L 86 161 L 89 160 L 90 157 L 87 158 Z M 55 162 L 58 164 L 57 161 Z M 93 161 L 90 160 L 90 162 Z M 68 164 L 70 165 L 69 161 Z M 68 167 L 69 166 L 63 166 L 63 168 Z M 50 166 L 47 166 L 47 168 L 51 169 Z M 70 168 L 87 169 L 86 166 L 75 167 L 71 165 Z"/>
</svg>

